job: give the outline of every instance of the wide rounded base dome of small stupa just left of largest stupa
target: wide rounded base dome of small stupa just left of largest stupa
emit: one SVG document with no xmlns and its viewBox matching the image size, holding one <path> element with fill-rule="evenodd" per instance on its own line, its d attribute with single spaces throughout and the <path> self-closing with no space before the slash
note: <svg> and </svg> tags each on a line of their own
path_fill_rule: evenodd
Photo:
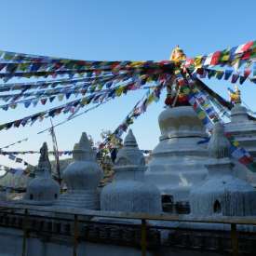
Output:
<svg viewBox="0 0 256 256">
<path fill-rule="evenodd" d="M 126 212 L 161 212 L 160 191 L 151 184 L 118 181 L 101 191 L 101 210 Z"/>
</svg>

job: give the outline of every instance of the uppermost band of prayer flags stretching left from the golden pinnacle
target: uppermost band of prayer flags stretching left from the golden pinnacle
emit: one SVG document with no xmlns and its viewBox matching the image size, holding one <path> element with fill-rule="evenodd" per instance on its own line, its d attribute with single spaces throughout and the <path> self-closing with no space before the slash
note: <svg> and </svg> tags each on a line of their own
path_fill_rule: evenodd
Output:
<svg viewBox="0 0 256 256">
<path fill-rule="evenodd" d="M 135 69 L 161 69 L 169 64 L 162 61 L 76 61 L 6 51 L 2 51 L 0 62 L 0 77 L 6 80 L 12 77 L 56 77 L 60 74 L 116 74 Z"/>
</svg>

